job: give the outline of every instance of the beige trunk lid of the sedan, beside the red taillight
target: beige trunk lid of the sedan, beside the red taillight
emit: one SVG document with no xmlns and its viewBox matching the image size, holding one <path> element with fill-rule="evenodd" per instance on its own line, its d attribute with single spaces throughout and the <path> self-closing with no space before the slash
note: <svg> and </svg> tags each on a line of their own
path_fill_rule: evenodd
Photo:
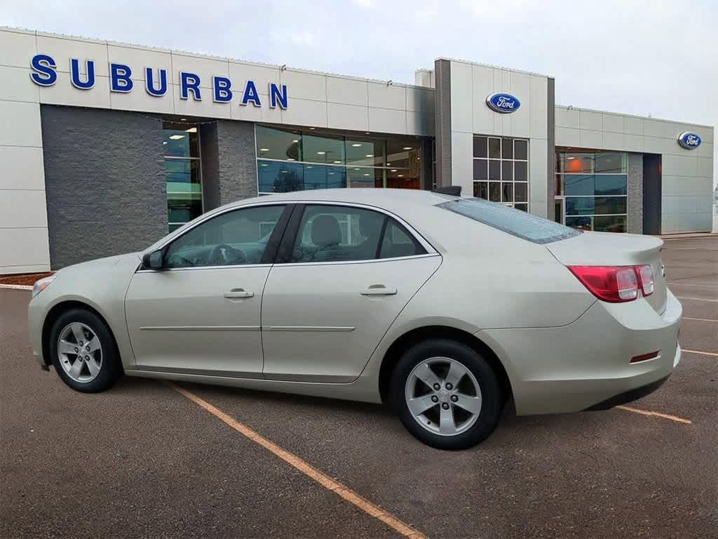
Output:
<svg viewBox="0 0 718 539">
<path fill-rule="evenodd" d="M 653 294 L 645 299 L 661 313 L 666 305 L 666 277 L 663 275 L 663 240 L 637 234 L 584 232 L 544 247 L 567 266 L 636 266 L 650 264 Z"/>
</svg>

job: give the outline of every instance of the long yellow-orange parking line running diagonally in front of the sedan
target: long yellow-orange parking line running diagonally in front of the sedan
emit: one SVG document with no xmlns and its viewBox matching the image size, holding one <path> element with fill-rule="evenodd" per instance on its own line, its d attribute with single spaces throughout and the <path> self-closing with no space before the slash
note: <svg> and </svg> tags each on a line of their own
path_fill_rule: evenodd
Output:
<svg viewBox="0 0 718 539">
<path fill-rule="evenodd" d="M 419 532 L 418 530 L 415 530 L 414 528 L 411 528 L 410 525 L 406 524 L 405 522 L 402 522 L 395 516 L 391 515 L 391 513 L 381 509 L 380 507 L 377 507 L 368 499 L 365 499 L 356 492 L 354 492 L 352 489 L 345 487 L 341 483 L 337 483 L 334 479 L 327 476 L 326 474 L 322 474 L 321 471 L 313 468 L 312 466 L 307 464 L 307 462 L 294 455 L 294 453 L 290 453 L 289 451 L 286 451 L 286 449 L 277 446 L 276 443 L 269 441 L 267 438 L 264 438 L 264 436 L 261 436 L 260 434 L 256 433 L 248 426 L 239 423 L 239 421 L 230 417 L 230 415 L 225 414 L 217 407 L 210 405 L 210 403 L 206 400 L 197 397 L 197 395 L 195 395 L 194 393 L 182 389 L 182 387 L 178 387 L 171 382 L 169 383 L 169 386 L 172 387 L 172 389 L 176 392 L 187 397 L 192 402 L 195 402 L 195 404 L 200 405 L 210 414 L 222 420 L 224 423 L 229 425 L 238 433 L 242 434 L 243 436 L 246 436 L 254 443 L 257 443 L 258 445 L 264 447 L 267 451 L 274 453 L 287 464 L 289 464 L 290 466 L 294 466 L 294 468 L 301 471 L 302 474 L 308 476 L 311 479 L 314 479 L 314 481 L 322 485 L 322 487 L 325 487 L 325 489 L 331 490 L 332 492 L 337 494 L 337 496 L 340 496 L 345 499 L 345 501 L 355 505 L 367 515 L 370 515 L 377 520 L 381 520 L 381 522 L 388 525 L 389 528 L 395 530 L 396 533 L 404 535 L 404 537 L 409 539 L 426 539 L 426 535 L 424 535 L 423 533 Z"/>
</svg>

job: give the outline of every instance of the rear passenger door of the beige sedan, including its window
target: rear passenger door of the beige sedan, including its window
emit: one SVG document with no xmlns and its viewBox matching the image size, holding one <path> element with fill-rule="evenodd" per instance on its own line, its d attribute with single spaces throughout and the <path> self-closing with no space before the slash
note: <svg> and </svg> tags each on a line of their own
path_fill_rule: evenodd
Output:
<svg viewBox="0 0 718 539">
<path fill-rule="evenodd" d="M 262 302 L 264 377 L 356 379 L 439 264 L 439 254 L 386 213 L 297 206 Z"/>
</svg>

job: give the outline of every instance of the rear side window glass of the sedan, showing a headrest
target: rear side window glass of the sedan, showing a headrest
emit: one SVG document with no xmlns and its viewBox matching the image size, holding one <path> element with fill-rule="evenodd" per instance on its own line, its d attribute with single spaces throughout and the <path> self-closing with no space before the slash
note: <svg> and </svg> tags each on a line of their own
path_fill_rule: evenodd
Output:
<svg viewBox="0 0 718 539">
<path fill-rule="evenodd" d="M 404 227 L 383 213 L 317 204 L 304 208 L 291 262 L 351 262 L 404 257 L 417 254 L 418 250 L 423 254 L 421 245 Z"/>
</svg>

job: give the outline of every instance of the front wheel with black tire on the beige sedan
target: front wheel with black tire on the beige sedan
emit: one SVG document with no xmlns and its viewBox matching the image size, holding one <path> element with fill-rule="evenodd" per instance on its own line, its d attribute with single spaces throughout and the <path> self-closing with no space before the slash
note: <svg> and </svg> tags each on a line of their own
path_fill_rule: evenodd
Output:
<svg viewBox="0 0 718 539">
<path fill-rule="evenodd" d="M 57 317 L 48 349 L 55 371 L 73 390 L 98 393 L 122 374 L 110 328 L 90 310 L 75 308 Z"/>
</svg>

